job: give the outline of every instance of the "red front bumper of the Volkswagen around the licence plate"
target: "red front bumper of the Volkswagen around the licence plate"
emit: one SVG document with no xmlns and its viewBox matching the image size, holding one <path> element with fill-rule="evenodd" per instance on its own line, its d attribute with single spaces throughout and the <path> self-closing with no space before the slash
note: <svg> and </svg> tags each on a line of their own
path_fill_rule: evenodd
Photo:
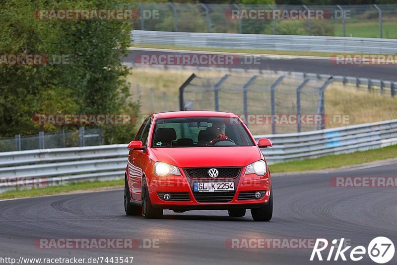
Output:
<svg viewBox="0 0 397 265">
<path fill-rule="evenodd" d="M 181 171 L 182 176 L 168 176 L 156 177 L 151 176 L 148 189 L 150 201 L 155 208 L 170 209 L 170 210 L 228 210 L 228 209 L 251 209 L 267 205 L 270 196 L 270 173 L 267 172 L 265 176 L 257 176 L 255 174 L 245 175 L 245 168 L 242 169 L 241 174 L 234 178 L 221 179 L 192 179 Z M 235 183 L 235 192 L 233 198 L 224 202 L 199 202 L 194 192 L 195 182 L 231 182 Z M 240 192 L 243 191 L 263 191 L 266 190 L 265 195 L 260 199 L 239 199 Z M 190 200 L 186 201 L 167 201 L 160 198 L 157 192 L 178 192 L 189 193 Z M 202 194 L 201 192 L 200 194 Z M 207 194 L 214 192 L 205 192 Z M 219 192 L 216 192 L 219 193 Z M 222 193 L 222 192 L 220 192 Z"/>
</svg>

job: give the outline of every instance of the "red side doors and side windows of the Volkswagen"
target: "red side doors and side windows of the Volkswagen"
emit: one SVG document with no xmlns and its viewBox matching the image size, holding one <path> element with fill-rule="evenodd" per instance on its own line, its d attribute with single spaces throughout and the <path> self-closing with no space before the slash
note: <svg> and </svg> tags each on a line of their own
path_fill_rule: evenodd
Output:
<svg viewBox="0 0 397 265">
<path fill-rule="evenodd" d="M 143 130 L 140 135 L 137 135 L 136 141 L 142 141 L 143 147 L 147 145 L 147 138 L 149 136 L 149 130 L 151 125 L 151 118 L 148 118 L 143 122 Z M 148 161 L 147 152 L 142 150 L 132 150 L 130 152 L 129 164 L 131 166 L 130 173 L 132 175 L 131 179 L 131 193 L 133 200 L 141 199 L 141 182 L 143 176 L 143 170 Z"/>
</svg>

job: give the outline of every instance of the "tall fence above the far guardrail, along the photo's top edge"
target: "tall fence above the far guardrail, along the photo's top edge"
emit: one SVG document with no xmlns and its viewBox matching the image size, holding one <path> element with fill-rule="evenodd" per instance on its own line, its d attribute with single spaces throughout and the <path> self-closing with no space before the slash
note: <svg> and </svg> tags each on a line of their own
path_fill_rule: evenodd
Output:
<svg viewBox="0 0 397 265">
<path fill-rule="evenodd" d="M 133 20 L 133 28 L 140 30 L 397 38 L 397 4 L 137 3 L 134 7 L 139 18 Z M 276 15 L 258 16 L 269 10 Z M 292 16 L 309 11 L 322 15 Z"/>
</svg>

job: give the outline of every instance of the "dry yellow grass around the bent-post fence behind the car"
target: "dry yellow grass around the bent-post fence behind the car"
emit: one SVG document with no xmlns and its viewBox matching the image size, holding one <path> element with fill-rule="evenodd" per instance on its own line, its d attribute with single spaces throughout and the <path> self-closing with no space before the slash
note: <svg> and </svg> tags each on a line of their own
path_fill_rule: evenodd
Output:
<svg viewBox="0 0 397 265">
<path fill-rule="evenodd" d="M 221 77 L 228 72 L 217 70 L 194 71 L 200 77 Z M 141 113 L 179 110 L 178 88 L 192 75 L 189 70 L 133 68 L 128 81 L 132 94 L 137 99 L 140 93 Z M 234 73 L 238 76 L 252 76 L 252 73 Z M 136 86 L 139 87 L 137 90 Z M 152 88 L 152 90 L 149 90 Z M 164 93 L 167 93 L 165 96 Z M 343 87 L 341 83 L 331 84 L 325 93 L 326 115 L 347 115 L 349 124 L 326 124 L 327 128 L 347 126 L 382 120 L 397 119 L 397 97 L 379 95 L 377 92 L 357 90 L 354 86 Z M 254 128 L 253 128 L 254 129 Z M 270 126 L 258 128 L 270 133 Z M 257 131 L 256 129 L 254 129 Z M 254 132 L 253 133 L 260 133 Z"/>
</svg>

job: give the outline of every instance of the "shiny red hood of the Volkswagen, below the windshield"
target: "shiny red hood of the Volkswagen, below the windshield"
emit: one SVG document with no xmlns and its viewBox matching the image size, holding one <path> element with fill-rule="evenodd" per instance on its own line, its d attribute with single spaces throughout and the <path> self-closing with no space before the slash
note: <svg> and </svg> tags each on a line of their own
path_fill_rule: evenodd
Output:
<svg viewBox="0 0 397 265">
<path fill-rule="evenodd" d="M 158 161 L 181 168 L 244 167 L 261 159 L 256 146 L 152 148 Z"/>
</svg>

